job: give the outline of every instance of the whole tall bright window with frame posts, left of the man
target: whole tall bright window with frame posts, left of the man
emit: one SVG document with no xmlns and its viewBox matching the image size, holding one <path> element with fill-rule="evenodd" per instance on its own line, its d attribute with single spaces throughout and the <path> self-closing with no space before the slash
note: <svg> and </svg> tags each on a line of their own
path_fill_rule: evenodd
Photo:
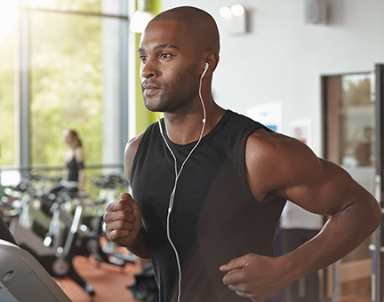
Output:
<svg viewBox="0 0 384 302">
<path fill-rule="evenodd" d="M 66 128 L 87 167 L 122 166 L 127 24 L 124 0 L 0 2 L 3 169 L 62 167 Z"/>
</svg>

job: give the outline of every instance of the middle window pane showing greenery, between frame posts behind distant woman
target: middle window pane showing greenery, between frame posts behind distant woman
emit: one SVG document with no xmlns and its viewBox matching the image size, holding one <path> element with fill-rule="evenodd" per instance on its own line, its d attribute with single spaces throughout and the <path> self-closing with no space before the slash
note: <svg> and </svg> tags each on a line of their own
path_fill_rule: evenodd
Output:
<svg viewBox="0 0 384 302">
<path fill-rule="evenodd" d="M 31 12 L 30 161 L 62 163 L 61 132 L 75 129 L 101 163 L 103 61 L 99 17 Z"/>
</svg>

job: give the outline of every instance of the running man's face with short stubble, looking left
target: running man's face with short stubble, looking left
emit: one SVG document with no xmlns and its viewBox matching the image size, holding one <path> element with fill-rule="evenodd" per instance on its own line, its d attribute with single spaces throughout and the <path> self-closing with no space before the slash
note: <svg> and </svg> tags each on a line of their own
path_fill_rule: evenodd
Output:
<svg viewBox="0 0 384 302">
<path fill-rule="evenodd" d="M 198 98 L 199 74 L 184 25 L 152 22 L 141 37 L 139 55 L 145 106 L 151 111 L 188 113 Z"/>
</svg>

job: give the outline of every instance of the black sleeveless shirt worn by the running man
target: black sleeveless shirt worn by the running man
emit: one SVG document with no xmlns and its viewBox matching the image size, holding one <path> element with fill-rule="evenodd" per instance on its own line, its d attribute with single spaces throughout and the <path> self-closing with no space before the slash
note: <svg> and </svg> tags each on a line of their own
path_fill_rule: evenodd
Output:
<svg viewBox="0 0 384 302">
<path fill-rule="evenodd" d="M 164 126 L 164 120 L 161 120 Z M 180 174 L 170 218 L 170 234 L 180 256 L 181 301 L 241 302 L 222 283 L 219 267 L 247 253 L 273 255 L 276 225 L 285 201 L 260 203 L 252 195 L 245 169 L 245 144 L 265 128 L 228 110 L 201 140 Z M 173 144 L 178 171 L 196 142 Z M 132 163 L 132 195 L 148 234 L 160 301 L 177 300 L 179 273 L 166 234 L 175 181 L 174 160 L 153 123 L 145 131 Z M 248 299 L 249 300 L 249 299 Z"/>
</svg>

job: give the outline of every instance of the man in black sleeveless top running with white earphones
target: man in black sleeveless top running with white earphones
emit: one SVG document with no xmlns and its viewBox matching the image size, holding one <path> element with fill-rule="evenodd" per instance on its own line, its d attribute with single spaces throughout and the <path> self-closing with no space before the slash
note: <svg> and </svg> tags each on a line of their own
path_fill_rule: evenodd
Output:
<svg viewBox="0 0 384 302">
<path fill-rule="evenodd" d="M 128 143 L 132 195 L 110 203 L 104 219 L 109 240 L 151 258 L 164 302 L 266 301 L 380 224 L 377 202 L 346 171 L 215 103 L 219 51 L 215 21 L 193 7 L 160 13 L 141 36 L 145 105 L 164 119 Z M 272 258 L 288 199 L 332 218 Z"/>
</svg>

